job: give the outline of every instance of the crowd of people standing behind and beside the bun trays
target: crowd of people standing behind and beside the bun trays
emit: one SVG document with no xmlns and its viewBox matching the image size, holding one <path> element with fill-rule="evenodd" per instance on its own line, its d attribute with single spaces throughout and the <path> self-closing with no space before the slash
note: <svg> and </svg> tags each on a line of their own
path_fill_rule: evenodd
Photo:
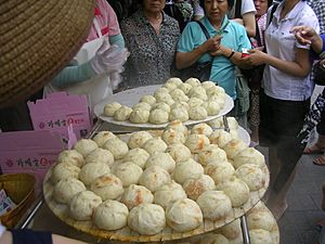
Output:
<svg viewBox="0 0 325 244">
<path fill-rule="evenodd" d="M 297 138 L 311 105 L 313 60 L 323 59 L 325 66 L 322 12 L 306 0 L 168 1 L 170 10 L 178 8 L 177 18 L 166 0 L 135 3 L 134 13 L 118 21 L 106 0 L 95 1 L 88 38 L 44 95 L 57 90 L 87 94 L 92 108 L 120 89 L 159 85 L 174 69 L 211 62 L 209 80 L 234 100 L 231 114 L 250 129 L 256 144 L 269 147 L 265 201 L 280 218 L 298 159 L 303 152 L 325 150 L 325 112 L 315 144 L 304 149 Z M 242 93 L 239 86 L 246 89 Z M 325 156 L 316 163 L 325 165 Z"/>
</svg>

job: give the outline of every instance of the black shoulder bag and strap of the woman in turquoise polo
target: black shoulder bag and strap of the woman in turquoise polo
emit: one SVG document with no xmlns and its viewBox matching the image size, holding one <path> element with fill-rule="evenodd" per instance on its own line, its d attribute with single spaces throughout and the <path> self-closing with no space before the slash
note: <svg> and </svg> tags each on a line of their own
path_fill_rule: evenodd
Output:
<svg viewBox="0 0 325 244">
<path fill-rule="evenodd" d="M 205 34 L 206 38 L 209 39 L 209 33 L 200 22 L 196 21 L 196 23 L 200 26 L 203 33 Z M 174 76 L 181 78 L 182 80 L 186 80 L 191 77 L 197 78 L 202 81 L 209 80 L 210 73 L 211 73 L 212 60 L 207 61 L 204 63 L 196 62 L 195 64 L 191 65 L 190 67 L 183 69 L 177 69 Z"/>
</svg>

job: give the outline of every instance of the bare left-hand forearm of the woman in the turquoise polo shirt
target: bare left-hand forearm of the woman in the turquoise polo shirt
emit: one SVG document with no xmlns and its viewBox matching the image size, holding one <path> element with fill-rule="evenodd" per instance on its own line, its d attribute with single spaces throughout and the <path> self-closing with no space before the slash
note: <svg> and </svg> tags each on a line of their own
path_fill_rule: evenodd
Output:
<svg viewBox="0 0 325 244">
<path fill-rule="evenodd" d="M 191 52 L 177 52 L 176 55 L 176 66 L 178 69 L 190 67 L 192 64 L 197 62 L 197 60 L 207 52 L 207 50 L 199 46 Z"/>
</svg>

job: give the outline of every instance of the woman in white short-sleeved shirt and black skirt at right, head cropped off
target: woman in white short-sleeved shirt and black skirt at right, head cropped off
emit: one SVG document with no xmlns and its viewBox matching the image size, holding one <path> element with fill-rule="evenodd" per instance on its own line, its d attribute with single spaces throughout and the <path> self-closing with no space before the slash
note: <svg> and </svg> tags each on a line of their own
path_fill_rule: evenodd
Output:
<svg viewBox="0 0 325 244">
<path fill-rule="evenodd" d="M 252 49 L 251 65 L 265 64 L 260 99 L 260 145 L 269 147 L 271 180 L 268 205 L 276 218 L 285 211 L 285 196 L 303 152 L 297 134 L 310 107 L 310 46 L 300 44 L 290 29 L 307 24 L 318 31 L 318 21 L 303 0 L 284 0 L 264 35 L 268 53 Z"/>
</svg>

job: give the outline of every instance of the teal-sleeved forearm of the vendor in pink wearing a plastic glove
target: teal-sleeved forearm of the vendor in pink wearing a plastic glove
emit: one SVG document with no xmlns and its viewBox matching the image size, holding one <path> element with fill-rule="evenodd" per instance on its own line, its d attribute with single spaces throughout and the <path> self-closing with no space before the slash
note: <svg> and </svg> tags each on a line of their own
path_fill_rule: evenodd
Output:
<svg viewBox="0 0 325 244">
<path fill-rule="evenodd" d="M 58 88 L 75 85 L 95 76 L 89 62 L 65 67 L 53 80 L 52 85 Z"/>
</svg>

